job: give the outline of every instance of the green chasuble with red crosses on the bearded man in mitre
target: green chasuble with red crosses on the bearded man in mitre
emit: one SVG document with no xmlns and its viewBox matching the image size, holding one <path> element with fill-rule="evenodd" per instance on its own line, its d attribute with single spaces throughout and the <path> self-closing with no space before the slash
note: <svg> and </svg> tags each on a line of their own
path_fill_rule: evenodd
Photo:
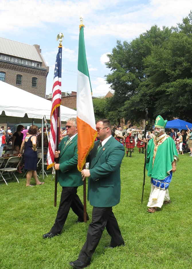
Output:
<svg viewBox="0 0 192 269">
<path fill-rule="evenodd" d="M 155 147 L 155 145 L 157 145 L 156 137 L 150 139 L 147 146 L 147 175 L 157 180 L 163 180 L 169 176 L 172 170 L 174 156 L 175 159 L 179 161 L 174 140 L 168 135 L 162 135 L 161 137 L 163 142 L 159 143 L 158 147 Z M 156 155 L 154 154 L 154 149 L 157 149 Z"/>
</svg>

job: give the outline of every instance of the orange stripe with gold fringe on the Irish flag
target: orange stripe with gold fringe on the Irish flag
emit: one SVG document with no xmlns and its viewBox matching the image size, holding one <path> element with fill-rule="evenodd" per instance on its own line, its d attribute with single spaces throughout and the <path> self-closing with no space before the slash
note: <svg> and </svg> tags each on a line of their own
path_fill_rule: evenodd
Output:
<svg viewBox="0 0 192 269">
<path fill-rule="evenodd" d="M 78 132 L 78 164 L 79 171 L 83 169 L 86 158 L 89 152 L 94 147 L 95 138 L 97 137 L 97 131 L 91 128 L 91 126 L 77 117 L 77 132 Z"/>
</svg>

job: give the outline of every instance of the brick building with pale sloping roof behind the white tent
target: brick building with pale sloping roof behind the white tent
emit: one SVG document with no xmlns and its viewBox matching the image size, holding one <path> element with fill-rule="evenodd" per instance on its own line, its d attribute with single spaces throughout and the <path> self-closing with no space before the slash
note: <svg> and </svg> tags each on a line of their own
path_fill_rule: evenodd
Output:
<svg viewBox="0 0 192 269">
<path fill-rule="evenodd" d="M 45 98 L 48 72 L 39 45 L 0 37 L 0 80 Z"/>
</svg>

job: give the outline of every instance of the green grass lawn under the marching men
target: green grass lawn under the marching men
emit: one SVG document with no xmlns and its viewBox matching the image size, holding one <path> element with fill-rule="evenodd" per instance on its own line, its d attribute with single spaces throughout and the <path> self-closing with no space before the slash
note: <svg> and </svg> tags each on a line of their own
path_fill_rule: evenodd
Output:
<svg viewBox="0 0 192 269">
<path fill-rule="evenodd" d="M 125 155 L 126 156 L 126 155 Z M 118 268 L 192 268 L 192 207 L 191 162 L 189 154 L 179 155 L 177 171 L 169 187 L 171 204 L 162 206 L 154 214 L 147 212 L 150 178 L 146 176 L 141 204 L 144 154 L 135 148 L 132 158 L 124 157 L 121 166 L 122 194 L 113 207 L 125 240 L 124 247 L 104 249 L 110 243 L 105 230 L 92 257 L 90 269 Z M 58 185 L 57 206 L 54 207 L 54 180 L 45 177 L 45 184 L 26 188 L 26 178 L 18 174 L 16 180 L 1 181 L 0 193 L 0 268 L 65 269 L 76 260 L 83 246 L 92 206 L 87 202 L 88 223 L 76 223 L 70 210 L 62 234 L 52 239 L 42 235 L 50 231 L 61 187 Z M 34 180 L 31 181 L 34 184 Z M 78 188 L 83 200 L 83 188 Z"/>
</svg>

